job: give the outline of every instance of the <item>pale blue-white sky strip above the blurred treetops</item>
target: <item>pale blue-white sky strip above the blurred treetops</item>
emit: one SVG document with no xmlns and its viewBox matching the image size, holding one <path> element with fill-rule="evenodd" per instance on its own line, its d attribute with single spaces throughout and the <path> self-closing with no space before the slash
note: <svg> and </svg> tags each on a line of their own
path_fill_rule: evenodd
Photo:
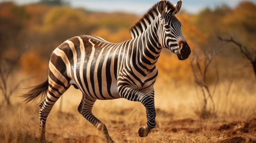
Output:
<svg viewBox="0 0 256 143">
<path fill-rule="evenodd" d="M 3 1 L 14 1 L 16 4 L 24 5 L 39 2 L 40 0 L 0 0 Z M 91 11 L 104 11 L 114 12 L 123 11 L 128 13 L 135 13 L 142 15 L 145 13 L 153 4 L 159 0 L 64 0 L 69 2 L 71 7 L 85 8 Z M 170 0 L 173 4 L 176 4 L 178 0 Z M 227 4 L 229 7 L 234 8 L 240 2 L 245 0 L 182 0 L 182 7 L 184 11 L 188 13 L 198 13 L 205 7 L 213 9 L 214 7 Z M 256 0 L 247 0 L 256 3 Z"/>
</svg>

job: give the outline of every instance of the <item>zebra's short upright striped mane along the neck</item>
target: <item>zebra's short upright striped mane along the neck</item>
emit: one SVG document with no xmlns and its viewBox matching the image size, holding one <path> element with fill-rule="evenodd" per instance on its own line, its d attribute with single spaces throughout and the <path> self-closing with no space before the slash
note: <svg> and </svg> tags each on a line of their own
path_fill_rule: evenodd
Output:
<svg viewBox="0 0 256 143">
<path fill-rule="evenodd" d="M 167 11 L 174 11 L 175 6 L 166 0 L 163 0 L 166 3 Z M 159 2 L 154 4 L 143 16 L 142 18 L 136 22 L 131 28 L 130 28 L 130 35 L 132 39 L 135 39 L 135 37 L 138 37 L 145 31 L 148 26 L 155 20 L 155 18 L 158 15 L 158 5 Z"/>
</svg>

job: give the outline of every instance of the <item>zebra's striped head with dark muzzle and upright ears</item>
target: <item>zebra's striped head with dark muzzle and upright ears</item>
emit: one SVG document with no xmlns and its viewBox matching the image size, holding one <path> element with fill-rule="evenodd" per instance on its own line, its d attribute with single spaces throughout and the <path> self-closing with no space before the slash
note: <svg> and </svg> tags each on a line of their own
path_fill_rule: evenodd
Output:
<svg viewBox="0 0 256 143">
<path fill-rule="evenodd" d="M 161 0 L 158 3 L 158 37 L 162 47 L 168 48 L 180 60 L 183 60 L 189 57 L 191 50 L 181 33 L 182 24 L 175 17 L 175 14 L 180 11 L 181 3 L 181 0 L 175 5 L 165 0 Z"/>
</svg>

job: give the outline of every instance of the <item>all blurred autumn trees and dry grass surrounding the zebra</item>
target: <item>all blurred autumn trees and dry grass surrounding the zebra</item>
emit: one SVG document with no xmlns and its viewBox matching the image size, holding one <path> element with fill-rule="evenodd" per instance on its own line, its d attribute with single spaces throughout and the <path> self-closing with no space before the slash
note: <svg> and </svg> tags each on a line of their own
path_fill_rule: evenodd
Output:
<svg viewBox="0 0 256 143">
<path fill-rule="evenodd" d="M 94 113 L 121 142 L 232 142 L 241 138 L 256 142 L 256 4 L 243 1 L 234 9 L 222 5 L 193 15 L 181 11 L 176 16 L 192 53 L 189 59 L 179 61 L 170 51 L 162 51 L 155 84 L 158 124 L 152 136 L 137 136 L 139 126 L 146 123 L 139 103 L 97 101 Z M 97 35 L 110 42 L 129 40 L 129 29 L 139 18 L 61 3 L 0 3 L 0 142 L 37 141 L 39 102 L 24 105 L 19 96 L 27 92 L 27 86 L 45 79 L 49 56 L 59 44 L 77 35 Z M 76 111 L 80 100 L 81 93 L 70 89 L 56 103 L 46 127 L 49 140 L 97 139 L 93 134 L 99 132 Z M 128 118 L 129 114 L 134 117 Z M 225 132 L 220 132 L 222 125 L 232 130 L 223 128 Z M 248 134 L 237 133 L 237 129 L 248 129 Z"/>
</svg>

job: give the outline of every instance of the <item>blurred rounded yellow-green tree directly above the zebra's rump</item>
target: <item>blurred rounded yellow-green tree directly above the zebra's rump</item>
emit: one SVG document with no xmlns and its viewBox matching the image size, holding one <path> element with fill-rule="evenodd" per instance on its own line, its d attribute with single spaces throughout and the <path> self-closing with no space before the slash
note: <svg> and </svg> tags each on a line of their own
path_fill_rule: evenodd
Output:
<svg viewBox="0 0 256 143">
<path fill-rule="evenodd" d="M 40 13 L 39 13 L 40 14 Z M 53 7 L 42 15 L 40 24 L 31 26 L 29 37 L 33 49 L 45 59 L 65 40 L 79 35 L 89 35 L 92 24 L 83 9 Z"/>
</svg>

